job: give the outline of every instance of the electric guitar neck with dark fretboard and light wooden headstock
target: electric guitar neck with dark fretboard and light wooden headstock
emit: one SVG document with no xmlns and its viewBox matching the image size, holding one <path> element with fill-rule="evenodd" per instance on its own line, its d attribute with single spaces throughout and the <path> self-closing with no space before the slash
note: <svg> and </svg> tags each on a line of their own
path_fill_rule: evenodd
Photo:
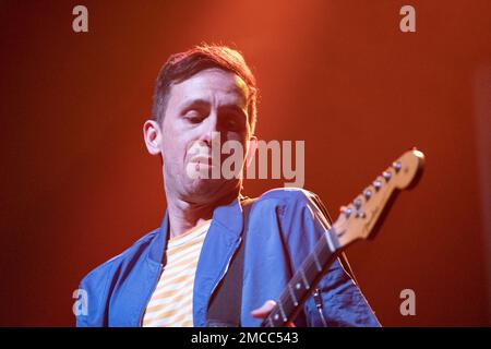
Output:
<svg viewBox="0 0 491 349">
<path fill-rule="evenodd" d="M 337 255 L 357 240 L 374 238 L 397 193 L 417 184 L 423 165 L 424 155 L 421 152 L 416 148 L 406 152 L 349 205 L 344 206 L 331 229 L 296 270 L 261 326 L 283 327 L 295 320 Z"/>
</svg>

